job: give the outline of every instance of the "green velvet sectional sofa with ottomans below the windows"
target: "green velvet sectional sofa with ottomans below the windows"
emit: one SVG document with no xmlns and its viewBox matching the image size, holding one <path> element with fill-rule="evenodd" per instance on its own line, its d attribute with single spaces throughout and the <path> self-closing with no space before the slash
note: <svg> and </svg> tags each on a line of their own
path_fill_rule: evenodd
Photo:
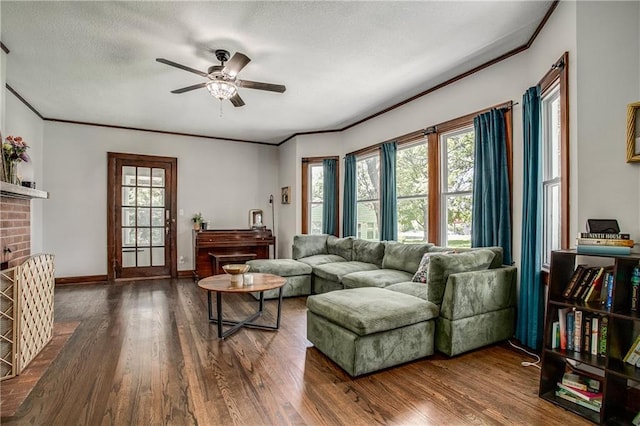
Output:
<svg viewBox="0 0 640 426">
<path fill-rule="evenodd" d="M 513 335 L 516 268 L 502 265 L 500 247 L 454 252 L 296 235 L 292 249 L 293 259 L 247 263 L 253 272 L 284 276 L 285 297 L 309 295 L 307 338 L 351 375 Z"/>
</svg>

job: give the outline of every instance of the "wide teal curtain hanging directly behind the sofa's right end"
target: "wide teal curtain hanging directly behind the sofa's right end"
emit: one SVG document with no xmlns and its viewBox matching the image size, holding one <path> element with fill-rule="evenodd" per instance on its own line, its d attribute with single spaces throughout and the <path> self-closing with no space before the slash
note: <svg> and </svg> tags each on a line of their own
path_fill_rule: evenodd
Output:
<svg viewBox="0 0 640 426">
<path fill-rule="evenodd" d="M 511 264 L 511 198 L 504 109 L 473 119 L 475 127 L 471 246 L 500 246 Z"/>
</svg>

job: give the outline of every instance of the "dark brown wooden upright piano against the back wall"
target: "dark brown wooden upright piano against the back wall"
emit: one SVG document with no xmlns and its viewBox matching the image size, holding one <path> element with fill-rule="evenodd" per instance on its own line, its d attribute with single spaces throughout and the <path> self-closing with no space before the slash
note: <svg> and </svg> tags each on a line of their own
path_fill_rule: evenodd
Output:
<svg viewBox="0 0 640 426">
<path fill-rule="evenodd" d="M 276 237 L 270 229 L 193 231 L 194 279 L 224 274 L 222 266 L 229 263 L 269 259 L 272 246 L 275 254 Z"/>
</svg>

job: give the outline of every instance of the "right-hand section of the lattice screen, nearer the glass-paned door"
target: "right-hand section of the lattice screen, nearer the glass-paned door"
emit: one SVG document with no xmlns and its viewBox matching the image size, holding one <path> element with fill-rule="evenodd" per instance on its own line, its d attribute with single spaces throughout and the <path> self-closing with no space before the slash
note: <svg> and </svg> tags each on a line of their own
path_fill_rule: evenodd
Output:
<svg viewBox="0 0 640 426">
<path fill-rule="evenodd" d="M 35 358 L 53 337 L 53 255 L 30 257 L 16 271 L 20 307 L 18 371 Z"/>
</svg>

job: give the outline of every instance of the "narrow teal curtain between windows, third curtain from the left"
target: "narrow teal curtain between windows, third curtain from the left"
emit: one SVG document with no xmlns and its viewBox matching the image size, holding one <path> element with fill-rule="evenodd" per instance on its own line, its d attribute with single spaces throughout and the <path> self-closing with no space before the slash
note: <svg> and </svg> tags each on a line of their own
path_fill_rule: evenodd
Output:
<svg viewBox="0 0 640 426">
<path fill-rule="evenodd" d="M 398 198 L 396 197 L 396 152 L 398 144 L 382 144 L 380 167 L 380 240 L 398 239 Z"/>
</svg>

